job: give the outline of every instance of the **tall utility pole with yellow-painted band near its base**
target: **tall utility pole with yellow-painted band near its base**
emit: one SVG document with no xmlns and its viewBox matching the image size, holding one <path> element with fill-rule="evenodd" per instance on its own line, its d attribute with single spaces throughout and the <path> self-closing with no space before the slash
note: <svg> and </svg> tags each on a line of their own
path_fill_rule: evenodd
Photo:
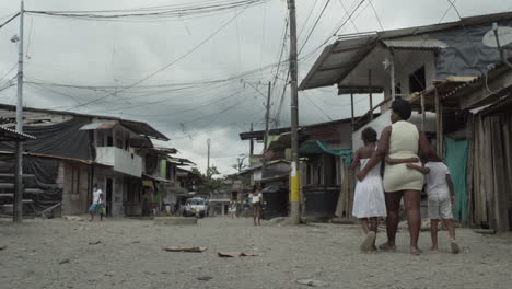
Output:
<svg viewBox="0 0 512 289">
<path fill-rule="evenodd" d="M 288 0 L 290 12 L 290 88 L 291 88 L 291 172 L 290 172 L 290 223 L 300 222 L 300 187 L 299 187 L 299 95 L 296 65 L 296 15 L 295 0 Z"/>
</svg>

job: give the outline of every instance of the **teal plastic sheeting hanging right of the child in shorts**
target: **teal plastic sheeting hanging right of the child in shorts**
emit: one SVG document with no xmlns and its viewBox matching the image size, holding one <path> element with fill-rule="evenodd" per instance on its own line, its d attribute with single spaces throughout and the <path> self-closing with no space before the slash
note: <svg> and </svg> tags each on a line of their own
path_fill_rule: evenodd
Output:
<svg viewBox="0 0 512 289">
<path fill-rule="evenodd" d="M 453 216 L 463 223 L 467 223 L 468 197 L 467 197 L 467 157 L 468 141 L 444 139 L 445 162 L 450 169 L 453 186 L 455 187 L 455 206 L 453 207 Z"/>
</svg>

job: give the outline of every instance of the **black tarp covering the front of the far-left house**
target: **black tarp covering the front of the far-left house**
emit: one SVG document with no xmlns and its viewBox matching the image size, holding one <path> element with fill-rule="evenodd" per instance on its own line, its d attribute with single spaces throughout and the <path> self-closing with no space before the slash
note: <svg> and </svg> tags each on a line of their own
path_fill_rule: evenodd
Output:
<svg viewBox="0 0 512 289">
<path fill-rule="evenodd" d="M 88 118 L 75 117 L 55 125 L 23 127 L 24 132 L 36 137 L 35 140 L 23 143 L 23 151 L 28 153 L 23 158 L 23 174 L 35 175 L 35 182 L 27 183 L 24 178 L 25 188 L 32 188 L 32 192 L 25 190 L 23 199 L 33 200 L 33 205 L 24 206 L 25 215 L 35 215 L 62 201 L 62 189 L 56 185 L 60 163 L 59 157 L 85 161 L 93 160 L 90 131 L 80 130 L 88 123 Z M 0 150 L 13 152 L 14 146 L 14 142 L 0 142 Z M 36 157 L 30 153 L 57 158 Z M 14 172 L 13 153 L 1 155 L 0 161 L 2 162 L 0 173 L 12 174 Z M 14 192 L 14 189 L 9 190 L 11 190 L 9 193 Z"/>
</svg>

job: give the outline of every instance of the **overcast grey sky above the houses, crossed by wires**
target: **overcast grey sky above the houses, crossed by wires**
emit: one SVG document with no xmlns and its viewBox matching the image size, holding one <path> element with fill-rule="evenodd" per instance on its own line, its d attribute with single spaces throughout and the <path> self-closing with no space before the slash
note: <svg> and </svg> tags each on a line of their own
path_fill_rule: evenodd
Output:
<svg viewBox="0 0 512 289">
<path fill-rule="evenodd" d="M 148 7 L 175 9 L 233 1 L 26 0 L 25 9 L 140 12 Z M 360 1 L 298 0 L 300 80 L 321 49 L 311 51 L 334 41 L 333 32 L 347 19 L 346 11 L 353 11 Z M 510 0 L 459 0 L 454 4 L 462 16 L 512 10 Z M 19 11 L 19 1 L 0 0 L 0 7 L 3 23 Z M 287 15 L 284 0 L 193 18 L 98 21 L 27 14 L 24 103 L 148 122 L 172 139 L 164 146 L 177 148 L 178 157 L 191 159 L 201 170 L 206 167 L 207 139 L 211 139 L 211 162 L 221 173 L 232 173 L 236 158 L 248 152 L 248 142 L 241 141 L 238 134 L 249 130 L 252 123 L 255 129 L 264 128 L 269 81 L 276 83 L 271 86 L 271 126 L 277 120 L 279 126 L 290 124 L 289 90 L 281 100 L 288 67 L 281 65 L 278 70 L 276 66 Z M 338 34 L 456 20 L 447 0 L 366 0 Z M 15 86 L 8 86 L 18 57 L 18 47 L 10 39 L 18 30 L 18 20 L 0 28 L 0 103 L 15 103 Z M 286 38 L 282 59 L 288 42 Z M 337 96 L 334 88 L 301 92 L 299 102 L 301 125 L 350 117 L 349 99 Z M 356 103 L 357 114 L 368 109 L 364 95 L 357 95 Z"/>
</svg>

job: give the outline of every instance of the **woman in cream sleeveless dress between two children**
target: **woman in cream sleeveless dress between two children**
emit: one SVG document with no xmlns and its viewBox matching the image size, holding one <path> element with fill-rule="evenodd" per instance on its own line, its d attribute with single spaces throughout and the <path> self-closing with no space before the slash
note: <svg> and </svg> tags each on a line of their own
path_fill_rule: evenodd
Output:
<svg viewBox="0 0 512 289">
<path fill-rule="evenodd" d="M 415 159 L 414 164 L 421 165 L 418 154 L 429 154 L 429 141 L 416 125 L 407 122 L 411 115 L 411 105 L 405 100 L 392 103 L 392 125 L 384 128 L 379 141 L 379 148 L 373 153 L 364 169 L 358 173 L 358 180 L 363 181 L 370 171 L 385 157 L 391 159 Z M 408 167 L 405 163 L 387 164 L 384 170 L 384 196 L 386 200 L 387 242 L 380 245 L 383 251 L 396 251 L 395 238 L 399 222 L 400 200 L 407 210 L 409 227 L 410 254 L 419 255 L 418 239 L 421 226 L 420 193 L 423 188 L 423 174 Z"/>
</svg>

